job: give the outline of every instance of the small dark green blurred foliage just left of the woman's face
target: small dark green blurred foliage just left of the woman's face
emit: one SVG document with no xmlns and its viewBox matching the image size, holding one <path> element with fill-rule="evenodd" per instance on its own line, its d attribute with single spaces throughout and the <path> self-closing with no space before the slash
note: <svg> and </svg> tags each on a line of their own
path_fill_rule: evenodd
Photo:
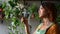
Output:
<svg viewBox="0 0 60 34">
<path fill-rule="evenodd" d="M 36 4 L 32 4 L 30 7 L 28 7 L 28 11 L 30 12 L 30 14 L 34 14 L 35 15 L 35 19 L 39 20 L 39 16 L 38 16 L 38 7 L 36 6 Z"/>
</svg>

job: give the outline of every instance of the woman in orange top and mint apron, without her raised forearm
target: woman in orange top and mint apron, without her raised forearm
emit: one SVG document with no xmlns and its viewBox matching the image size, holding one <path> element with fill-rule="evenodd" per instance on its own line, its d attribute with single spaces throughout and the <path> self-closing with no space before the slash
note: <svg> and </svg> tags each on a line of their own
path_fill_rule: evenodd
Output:
<svg viewBox="0 0 60 34">
<path fill-rule="evenodd" d="M 56 22 L 57 9 L 53 3 L 41 3 L 38 13 L 43 22 L 37 27 L 34 34 L 60 34 Z"/>
</svg>

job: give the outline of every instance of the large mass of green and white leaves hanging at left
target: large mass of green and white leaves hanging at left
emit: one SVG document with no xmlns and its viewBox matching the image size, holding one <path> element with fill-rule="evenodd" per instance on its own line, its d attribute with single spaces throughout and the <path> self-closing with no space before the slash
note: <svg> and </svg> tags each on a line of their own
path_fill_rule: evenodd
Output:
<svg viewBox="0 0 60 34">
<path fill-rule="evenodd" d="M 4 19 L 8 22 L 11 21 L 9 25 L 9 34 L 18 34 L 20 27 L 24 28 L 24 24 L 20 21 L 20 15 L 22 10 L 20 9 L 18 1 L 10 0 L 8 3 L 4 2 L 2 4 L 3 13 L 5 14 Z M 18 6 L 18 7 L 16 7 Z M 22 24 L 22 25 L 21 25 Z M 19 27 L 19 28 L 18 28 Z"/>
</svg>

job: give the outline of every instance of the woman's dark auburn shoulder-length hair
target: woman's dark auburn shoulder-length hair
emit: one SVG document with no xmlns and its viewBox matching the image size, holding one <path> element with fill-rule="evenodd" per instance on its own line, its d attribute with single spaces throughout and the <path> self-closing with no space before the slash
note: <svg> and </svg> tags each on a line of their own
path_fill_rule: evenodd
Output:
<svg viewBox="0 0 60 34">
<path fill-rule="evenodd" d="M 56 9 L 56 6 L 54 5 L 54 3 L 42 2 L 41 5 L 46 10 L 45 11 L 46 17 L 48 17 L 50 19 L 50 21 L 56 22 L 57 9 Z"/>
</svg>

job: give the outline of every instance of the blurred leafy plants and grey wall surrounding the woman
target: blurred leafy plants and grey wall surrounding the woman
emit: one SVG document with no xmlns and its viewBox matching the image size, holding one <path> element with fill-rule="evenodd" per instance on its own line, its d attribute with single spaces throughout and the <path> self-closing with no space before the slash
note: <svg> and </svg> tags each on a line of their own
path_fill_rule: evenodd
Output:
<svg viewBox="0 0 60 34">
<path fill-rule="evenodd" d="M 0 0 L 0 34 L 26 34 L 25 25 L 21 23 L 21 17 L 28 19 L 29 30 L 32 34 L 41 23 L 38 17 L 40 1 L 26 0 Z M 48 1 L 55 4 L 57 8 L 56 21 L 60 25 L 60 2 Z"/>
</svg>

